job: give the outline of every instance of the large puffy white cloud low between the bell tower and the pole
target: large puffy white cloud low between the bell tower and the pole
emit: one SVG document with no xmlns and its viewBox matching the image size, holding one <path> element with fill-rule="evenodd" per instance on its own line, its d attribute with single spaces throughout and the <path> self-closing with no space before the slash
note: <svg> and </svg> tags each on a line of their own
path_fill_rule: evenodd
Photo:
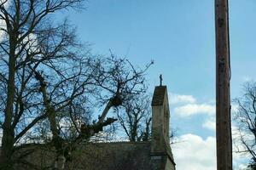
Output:
<svg viewBox="0 0 256 170">
<path fill-rule="evenodd" d="M 195 134 L 184 134 L 178 138 L 180 142 L 172 146 L 177 170 L 215 170 L 216 139 L 202 139 Z"/>
</svg>

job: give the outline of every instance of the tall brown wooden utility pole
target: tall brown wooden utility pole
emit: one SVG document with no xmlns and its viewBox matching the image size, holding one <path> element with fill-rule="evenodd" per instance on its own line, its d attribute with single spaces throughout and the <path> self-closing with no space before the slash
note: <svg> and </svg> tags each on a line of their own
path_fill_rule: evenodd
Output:
<svg viewBox="0 0 256 170">
<path fill-rule="evenodd" d="M 215 0 L 217 169 L 232 170 L 228 0 Z"/>
</svg>

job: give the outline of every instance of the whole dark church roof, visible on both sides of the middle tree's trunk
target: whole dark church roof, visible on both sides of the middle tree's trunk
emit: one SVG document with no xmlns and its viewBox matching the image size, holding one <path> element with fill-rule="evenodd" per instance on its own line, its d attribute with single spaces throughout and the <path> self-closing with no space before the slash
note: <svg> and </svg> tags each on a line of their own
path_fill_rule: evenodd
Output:
<svg viewBox="0 0 256 170">
<path fill-rule="evenodd" d="M 35 169 L 43 169 L 54 164 L 55 152 L 52 148 L 42 145 L 26 156 L 26 162 L 31 162 Z M 32 147 L 32 149 L 35 149 Z M 73 150 L 72 161 L 66 164 L 66 170 L 150 170 L 164 169 L 163 160 L 151 160 L 151 145 L 148 142 L 111 142 L 86 143 Z M 19 170 L 25 170 L 26 165 L 19 165 Z"/>
</svg>

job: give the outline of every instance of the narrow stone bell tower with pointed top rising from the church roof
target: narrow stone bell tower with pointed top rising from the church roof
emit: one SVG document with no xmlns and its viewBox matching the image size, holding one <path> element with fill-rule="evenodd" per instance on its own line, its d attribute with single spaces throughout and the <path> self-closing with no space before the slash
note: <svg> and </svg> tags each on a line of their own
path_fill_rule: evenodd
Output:
<svg viewBox="0 0 256 170">
<path fill-rule="evenodd" d="M 162 162 L 164 169 L 175 170 L 169 137 L 170 111 L 168 93 L 166 86 L 154 88 L 152 99 L 152 139 L 151 139 L 151 161 Z M 154 170 L 162 170 L 162 167 L 154 167 Z M 166 168 L 168 167 L 168 168 Z"/>
</svg>

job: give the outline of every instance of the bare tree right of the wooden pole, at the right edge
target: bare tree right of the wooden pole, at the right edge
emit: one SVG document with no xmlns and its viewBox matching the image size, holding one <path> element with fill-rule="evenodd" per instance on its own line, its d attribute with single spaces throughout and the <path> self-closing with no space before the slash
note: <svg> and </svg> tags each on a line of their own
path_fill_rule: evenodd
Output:
<svg viewBox="0 0 256 170">
<path fill-rule="evenodd" d="M 237 151 L 252 156 L 248 167 L 256 168 L 256 82 L 247 82 L 243 86 L 243 95 L 235 99 L 238 110 L 233 118 L 238 127 Z"/>
</svg>

